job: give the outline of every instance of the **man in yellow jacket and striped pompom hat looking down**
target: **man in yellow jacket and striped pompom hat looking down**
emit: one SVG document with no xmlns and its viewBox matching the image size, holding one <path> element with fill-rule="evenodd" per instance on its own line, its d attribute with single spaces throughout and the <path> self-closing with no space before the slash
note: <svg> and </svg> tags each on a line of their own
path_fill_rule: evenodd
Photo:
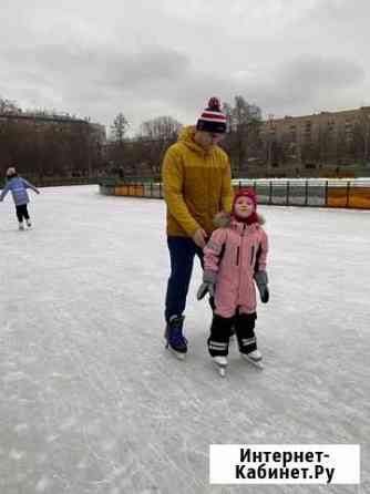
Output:
<svg viewBox="0 0 370 494">
<path fill-rule="evenodd" d="M 229 159 L 217 146 L 225 132 L 226 116 L 217 97 L 212 97 L 196 126 L 182 130 L 177 143 L 168 147 L 163 162 L 171 257 L 165 338 L 167 348 L 178 358 L 184 358 L 187 352 L 183 312 L 194 257 L 197 255 L 203 266 L 203 248 L 215 228 L 214 216 L 232 209 Z"/>
</svg>

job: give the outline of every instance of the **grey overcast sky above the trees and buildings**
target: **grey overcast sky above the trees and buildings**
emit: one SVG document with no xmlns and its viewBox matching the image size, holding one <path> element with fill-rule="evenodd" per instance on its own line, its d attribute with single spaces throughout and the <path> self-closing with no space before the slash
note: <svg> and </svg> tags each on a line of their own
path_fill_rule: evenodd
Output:
<svg viewBox="0 0 370 494">
<path fill-rule="evenodd" d="M 266 117 L 370 104 L 369 0 L 0 0 L 0 96 L 134 133 L 236 94 Z"/>
</svg>

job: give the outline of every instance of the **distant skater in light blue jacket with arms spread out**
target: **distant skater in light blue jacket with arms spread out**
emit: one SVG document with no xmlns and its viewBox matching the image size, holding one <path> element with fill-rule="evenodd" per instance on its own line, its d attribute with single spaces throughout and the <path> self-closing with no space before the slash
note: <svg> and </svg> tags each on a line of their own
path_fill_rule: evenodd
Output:
<svg viewBox="0 0 370 494">
<path fill-rule="evenodd" d="M 11 166 L 7 169 L 7 184 L 0 194 L 0 202 L 4 199 L 8 192 L 11 192 L 16 205 L 16 214 L 20 230 L 24 229 L 23 218 L 25 219 L 27 226 L 29 228 L 31 227 L 30 215 L 27 209 L 27 205 L 30 202 L 27 193 L 28 188 L 32 188 L 32 191 L 34 191 L 37 194 L 40 194 L 34 185 L 18 176 L 14 167 Z"/>
</svg>

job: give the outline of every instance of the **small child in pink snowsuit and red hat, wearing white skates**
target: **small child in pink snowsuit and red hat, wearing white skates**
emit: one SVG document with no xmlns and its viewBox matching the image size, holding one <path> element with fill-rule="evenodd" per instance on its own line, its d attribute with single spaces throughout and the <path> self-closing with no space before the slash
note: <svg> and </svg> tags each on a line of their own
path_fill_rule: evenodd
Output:
<svg viewBox="0 0 370 494">
<path fill-rule="evenodd" d="M 263 356 L 257 350 L 256 288 L 268 301 L 266 258 L 268 239 L 256 213 L 253 191 L 236 193 L 232 215 L 216 217 L 216 229 L 204 248 L 203 284 L 197 298 L 206 292 L 215 297 L 215 310 L 208 338 L 208 351 L 220 368 L 227 366 L 230 330 L 234 327 L 241 357 L 254 363 Z"/>
</svg>

